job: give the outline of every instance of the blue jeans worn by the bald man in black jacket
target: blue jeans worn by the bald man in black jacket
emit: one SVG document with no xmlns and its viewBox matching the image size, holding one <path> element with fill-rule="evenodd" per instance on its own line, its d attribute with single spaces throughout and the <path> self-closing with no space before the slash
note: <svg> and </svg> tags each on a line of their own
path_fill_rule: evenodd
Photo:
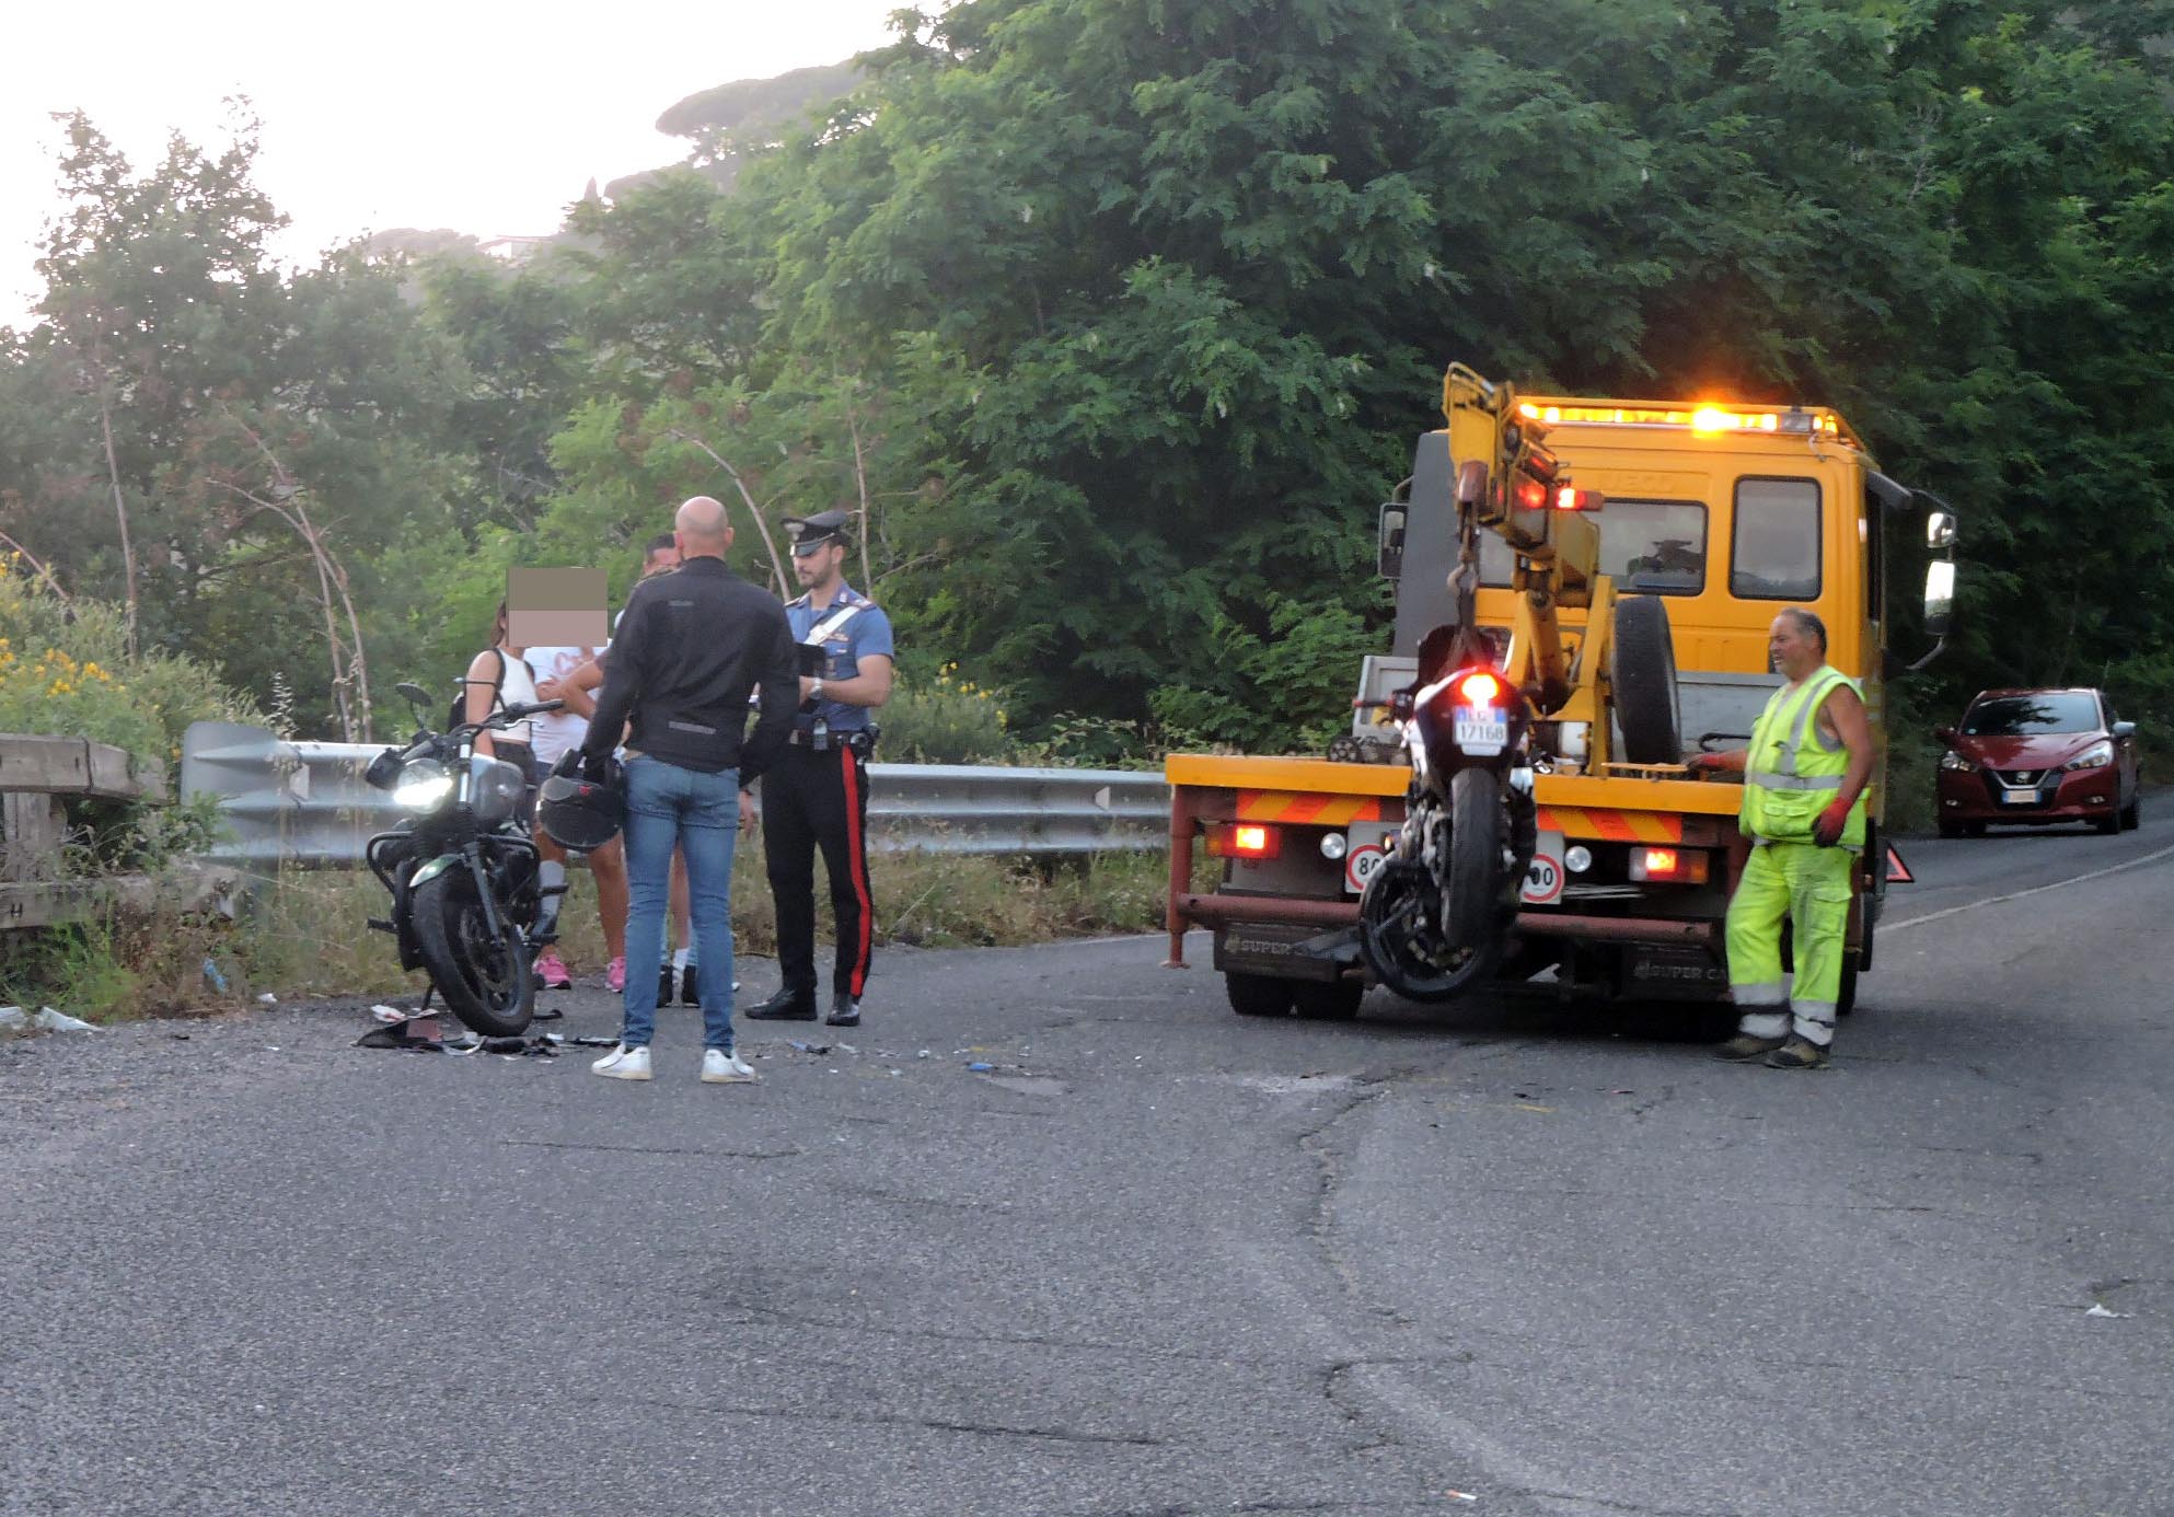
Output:
<svg viewBox="0 0 2174 1517">
<path fill-rule="evenodd" d="M 702 950 L 702 1045 L 733 1048 L 733 843 L 739 769 L 700 774 L 663 759 L 626 761 L 626 1024 L 620 1041 L 657 1032 L 672 848 L 687 858 L 687 906 Z M 713 967 L 715 965 L 715 967 Z"/>
</svg>

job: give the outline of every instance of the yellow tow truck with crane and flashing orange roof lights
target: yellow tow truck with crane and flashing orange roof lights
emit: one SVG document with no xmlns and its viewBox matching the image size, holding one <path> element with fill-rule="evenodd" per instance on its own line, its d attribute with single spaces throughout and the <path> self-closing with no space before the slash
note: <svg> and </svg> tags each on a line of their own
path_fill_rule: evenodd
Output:
<svg viewBox="0 0 2174 1517">
<path fill-rule="evenodd" d="M 1396 628 L 1367 656 L 1352 730 L 1326 759 L 1172 754 L 1170 963 L 1215 935 L 1241 1015 L 1348 1017 L 1374 974 L 1359 945 L 1367 880 L 1413 856 L 1424 806 L 1407 763 L 1411 695 L 1441 676 L 1446 632 L 1522 693 L 1509 772 L 1509 900 L 1487 945 L 1496 982 L 1559 993 L 1724 1002 L 1722 919 L 1746 845 L 1733 782 L 1694 778 L 1739 748 L 1770 691 L 1767 626 L 1813 611 L 1828 661 L 1863 682 L 1878 763 L 1854 876 L 1844 1006 L 1872 967 L 1891 878 L 1883 691 L 1891 532 L 1946 550 L 1926 567 L 1924 630 L 1946 637 L 1954 515 L 1878 472 L 1826 406 L 1520 396 L 1463 365 L 1446 426 L 1380 509 Z M 1922 515 L 1920 515 L 1922 511 Z M 1933 652 L 1909 667 L 1922 667 Z M 1439 689 L 1439 687 L 1435 687 Z M 1398 698 L 1402 695 L 1402 704 Z M 1198 848 L 1222 861 L 1194 891 Z M 1448 982 L 1448 980 L 1446 980 Z"/>
</svg>

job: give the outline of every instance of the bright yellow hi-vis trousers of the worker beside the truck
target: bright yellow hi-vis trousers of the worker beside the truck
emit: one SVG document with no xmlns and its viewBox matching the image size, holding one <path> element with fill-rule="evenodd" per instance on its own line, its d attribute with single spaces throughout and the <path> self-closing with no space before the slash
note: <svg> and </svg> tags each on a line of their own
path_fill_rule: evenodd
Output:
<svg viewBox="0 0 2174 1517">
<path fill-rule="evenodd" d="M 1728 902 L 1728 993 L 1744 1008 L 1739 1032 L 1807 1043 L 1835 1041 L 1841 952 L 1850 932 L 1848 848 L 1757 843 Z M 1796 985 L 1781 978 L 1781 924 L 1791 924 Z M 1787 1015 L 1783 1013 L 1787 1006 Z"/>
</svg>

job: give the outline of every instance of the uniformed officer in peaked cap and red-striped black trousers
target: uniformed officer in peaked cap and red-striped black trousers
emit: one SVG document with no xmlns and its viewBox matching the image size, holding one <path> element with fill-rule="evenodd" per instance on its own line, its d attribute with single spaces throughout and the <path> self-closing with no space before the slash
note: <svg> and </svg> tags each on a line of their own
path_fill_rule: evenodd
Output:
<svg viewBox="0 0 2174 1517">
<path fill-rule="evenodd" d="M 870 941 L 867 756 L 870 713 L 891 698 L 891 619 L 846 582 L 852 543 L 846 511 L 787 519 L 794 578 L 807 589 L 785 606 L 800 645 L 800 711 L 789 748 L 763 774 L 763 839 L 778 911 L 778 993 L 746 1015 L 765 1021 L 815 1017 L 815 848 L 822 845 L 837 915 L 830 1026 L 861 1021 Z"/>
</svg>

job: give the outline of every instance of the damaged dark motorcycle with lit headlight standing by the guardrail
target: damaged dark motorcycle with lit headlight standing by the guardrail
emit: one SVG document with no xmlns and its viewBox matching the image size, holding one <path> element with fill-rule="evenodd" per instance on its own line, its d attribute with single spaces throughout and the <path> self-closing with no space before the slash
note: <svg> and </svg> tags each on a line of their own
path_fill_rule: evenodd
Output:
<svg viewBox="0 0 2174 1517">
<path fill-rule="evenodd" d="M 411 815 L 363 850 L 393 900 L 391 919 L 370 926 L 393 935 L 400 967 L 424 969 L 446 1008 L 474 1032 L 515 1037 L 535 1015 L 530 961 L 557 937 L 559 891 L 544 889 L 537 845 L 522 819 L 528 776 L 520 765 L 478 754 L 474 739 L 563 702 L 507 706 L 485 722 L 433 732 L 430 693 L 417 685 L 398 689 L 415 704 L 420 730 L 407 748 L 378 754 L 363 778 L 391 791 Z"/>
</svg>

